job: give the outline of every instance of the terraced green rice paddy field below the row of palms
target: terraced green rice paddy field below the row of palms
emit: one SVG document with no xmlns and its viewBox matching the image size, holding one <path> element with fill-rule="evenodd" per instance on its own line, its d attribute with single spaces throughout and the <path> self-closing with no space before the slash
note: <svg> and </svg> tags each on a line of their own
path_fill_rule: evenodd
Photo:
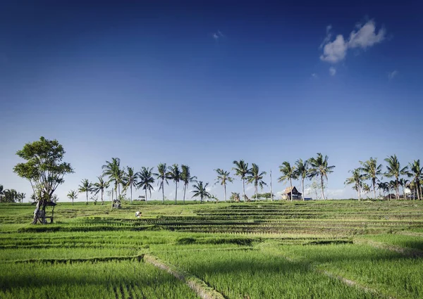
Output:
<svg viewBox="0 0 423 299">
<path fill-rule="evenodd" d="M 0 298 L 423 298 L 421 201 L 33 208 L 0 205 Z"/>
</svg>

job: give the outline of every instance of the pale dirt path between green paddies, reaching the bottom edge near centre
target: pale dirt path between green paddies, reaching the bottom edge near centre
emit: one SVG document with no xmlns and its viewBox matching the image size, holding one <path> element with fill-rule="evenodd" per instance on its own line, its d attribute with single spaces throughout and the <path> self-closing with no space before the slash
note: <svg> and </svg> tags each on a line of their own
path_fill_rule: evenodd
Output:
<svg viewBox="0 0 423 299">
<path fill-rule="evenodd" d="M 178 269 L 177 267 L 170 265 L 167 262 L 159 260 L 159 258 L 154 257 L 153 255 L 144 255 L 144 262 L 154 265 L 159 269 L 164 269 L 166 272 L 172 274 L 180 281 L 185 282 L 185 284 L 192 288 L 192 290 L 195 291 L 195 293 L 197 293 L 197 295 L 199 295 L 202 299 L 225 299 L 221 293 L 214 290 L 214 288 L 207 286 L 207 284 L 201 279 L 192 274 L 184 272 L 183 270 Z"/>
</svg>

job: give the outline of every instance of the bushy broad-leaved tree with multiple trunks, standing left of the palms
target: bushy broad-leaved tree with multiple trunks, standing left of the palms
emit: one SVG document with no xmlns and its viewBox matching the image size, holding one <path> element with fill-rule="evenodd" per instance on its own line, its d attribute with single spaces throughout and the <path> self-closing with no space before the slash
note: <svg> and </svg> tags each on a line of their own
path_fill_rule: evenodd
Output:
<svg viewBox="0 0 423 299">
<path fill-rule="evenodd" d="M 32 224 L 36 224 L 38 220 L 46 223 L 47 203 L 51 201 L 56 188 L 63 184 L 65 174 L 73 172 L 69 163 L 62 162 L 64 154 L 63 146 L 57 140 L 47 140 L 44 137 L 25 144 L 23 149 L 16 153 L 27 162 L 18 163 L 13 167 L 13 172 L 30 181 L 38 201 Z"/>
</svg>

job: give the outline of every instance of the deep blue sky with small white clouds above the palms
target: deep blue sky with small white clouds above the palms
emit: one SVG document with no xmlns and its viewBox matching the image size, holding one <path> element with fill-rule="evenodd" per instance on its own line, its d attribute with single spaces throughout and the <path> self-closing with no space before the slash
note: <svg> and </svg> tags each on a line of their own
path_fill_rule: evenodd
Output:
<svg viewBox="0 0 423 299">
<path fill-rule="evenodd" d="M 12 168 L 39 136 L 75 168 L 60 201 L 111 157 L 136 170 L 188 164 L 211 184 L 244 159 L 273 170 L 281 191 L 278 165 L 321 152 L 336 198 L 355 196 L 343 182 L 359 160 L 423 158 L 419 1 L 36 2 L 0 4 L 6 189 L 30 195 Z"/>
</svg>

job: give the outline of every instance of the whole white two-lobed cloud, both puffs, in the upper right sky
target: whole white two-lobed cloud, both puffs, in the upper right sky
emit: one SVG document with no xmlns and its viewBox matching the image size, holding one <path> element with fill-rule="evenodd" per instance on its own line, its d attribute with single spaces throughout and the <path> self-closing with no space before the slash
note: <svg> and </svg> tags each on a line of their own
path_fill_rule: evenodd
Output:
<svg viewBox="0 0 423 299">
<path fill-rule="evenodd" d="M 374 44 L 379 44 L 386 37 L 384 28 L 379 29 L 379 32 L 376 33 L 376 24 L 373 20 L 369 20 L 364 25 L 358 25 L 357 28 L 357 31 L 353 30 L 350 33 L 349 39 L 344 39 L 342 34 L 338 34 L 336 39 L 331 42 L 332 26 L 327 26 L 326 37 L 319 46 L 319 49 L 323 48 L 323 54 L 320 56 L 321 61 L 338 63 L 343 61 L 348 49 L 367 49 L 370 46 L 374 46 Z"/>
</svg>

